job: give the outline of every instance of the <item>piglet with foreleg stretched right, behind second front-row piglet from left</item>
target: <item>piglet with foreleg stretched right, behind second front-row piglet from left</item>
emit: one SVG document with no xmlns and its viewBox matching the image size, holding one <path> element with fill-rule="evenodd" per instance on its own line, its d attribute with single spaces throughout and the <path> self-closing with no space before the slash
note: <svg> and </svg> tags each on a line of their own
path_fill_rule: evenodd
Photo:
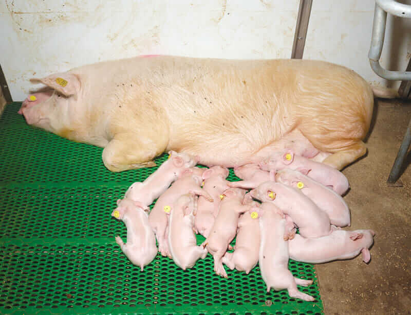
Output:
<svg viewBox="0 0 411 315">
<path fill-rule="evenodd" d="M 172 257 L 167 241 L 166 228 L 168 222 L 167 214 L 164 212 L 164 206 L 170 207 L 172 211 L 174 201 L 176 201 L 181 195 L 188 193 L 204 196 L 210 202 L 213 201 L 207 191 L 201 189 L 201 176 L 203 172 L 204 169 L 198 167 L 192 167 L 184 170 L 173 185 L 164 191 L 164 193 L 157 199 L 156 204 L 148 216 L 148 221 L 156 234 L 158 250 L 163 256 L 169 256 L 170 258 Z"/>
</svg>

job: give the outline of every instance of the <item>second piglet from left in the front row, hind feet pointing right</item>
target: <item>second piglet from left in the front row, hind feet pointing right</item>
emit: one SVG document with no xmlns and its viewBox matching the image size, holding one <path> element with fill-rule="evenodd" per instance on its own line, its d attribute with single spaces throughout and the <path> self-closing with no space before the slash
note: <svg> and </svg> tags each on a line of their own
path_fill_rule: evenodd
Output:
<svg viewBox="0 0 411 315">
<path fill-rule="evenodd" d="M 173 204 L 169 215 L 169 248 L 174 262 L 183 270 L 192 268 L 198 259 L 206 258 L 207 249 L 197 246 L 193 231 L 194 196 L 185 194 Z"/>
</svg>

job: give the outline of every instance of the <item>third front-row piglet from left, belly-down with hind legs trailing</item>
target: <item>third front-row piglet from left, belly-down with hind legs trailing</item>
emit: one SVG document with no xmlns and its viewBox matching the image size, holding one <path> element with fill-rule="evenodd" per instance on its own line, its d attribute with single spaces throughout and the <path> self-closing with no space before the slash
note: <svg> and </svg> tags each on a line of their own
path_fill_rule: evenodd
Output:
<svg viewBox="0 0 411 315">
<path fill-rule="evenodd" d="M 237 233 L 238 217 L 241 213 L 248 211 L 251 206 L 243 205 L 246 191 L 240 188 L 229 188 L 223 191 L 225 196 L 220 203 L 217 218 L 207 239 L 202 243 L 203 247 L 214 258 L 214 271 L 225 278 L 228 277 L 226 270 L 222 266 L 222 256 L 229 248 L 230 242 Z"/>
</svg>

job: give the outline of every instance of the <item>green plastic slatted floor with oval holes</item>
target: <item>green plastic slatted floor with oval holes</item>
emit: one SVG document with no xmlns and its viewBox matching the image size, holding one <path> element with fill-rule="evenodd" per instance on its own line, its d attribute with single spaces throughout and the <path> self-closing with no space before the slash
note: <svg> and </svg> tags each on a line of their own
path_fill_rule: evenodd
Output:
<svg viewBox="0 0 411 315">
<path fill-rule="evenodd" d="M 211 255 L 187 271 L 157 255 L 140 272 L 119 250 L 114 237 L 125 239 L 126 229 L 110 214 L 127 187 L 156 168 L 110 172 L 101 148 L 28 126 L 20 106 L 8 105 L 0 118 L 0 313 L 323 312 L 310 264 L 290 260 L 289 268 L 314 279 L 300 290 L 316 302 L 267 293 L 258 265 L 221 278 Z M 232 170 L 229 180 L 238 180 Z"/>
</svg>

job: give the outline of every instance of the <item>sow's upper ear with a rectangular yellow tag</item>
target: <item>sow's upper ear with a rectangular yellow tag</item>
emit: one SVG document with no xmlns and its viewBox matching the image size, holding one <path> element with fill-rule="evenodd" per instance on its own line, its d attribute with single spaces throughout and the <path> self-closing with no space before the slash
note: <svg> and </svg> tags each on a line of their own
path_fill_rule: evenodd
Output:
<svg viewBox="0 0 411 315">
<path fill-rule="evenodd" d="M 81 88 L 81 82 L 78 76 L 71 73 L 57 73 L 42 79 L 34 78 L 30 81 L 34 83 L 42 82 L 65 96 L 76 95 Z"/>
</svg>

